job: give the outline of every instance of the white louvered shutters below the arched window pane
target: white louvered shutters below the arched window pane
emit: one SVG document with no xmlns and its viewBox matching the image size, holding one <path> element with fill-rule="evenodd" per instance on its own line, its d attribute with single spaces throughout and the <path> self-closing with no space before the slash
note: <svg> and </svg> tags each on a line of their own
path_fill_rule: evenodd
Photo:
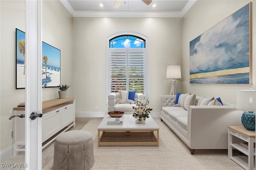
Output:
<svg viewBox="0 0 256 170">
<path fill-rule="evenodd" d="M 111 93 L 137 90 L 144 93 L 145 49 L 110 49 Z"/>
</svg>

